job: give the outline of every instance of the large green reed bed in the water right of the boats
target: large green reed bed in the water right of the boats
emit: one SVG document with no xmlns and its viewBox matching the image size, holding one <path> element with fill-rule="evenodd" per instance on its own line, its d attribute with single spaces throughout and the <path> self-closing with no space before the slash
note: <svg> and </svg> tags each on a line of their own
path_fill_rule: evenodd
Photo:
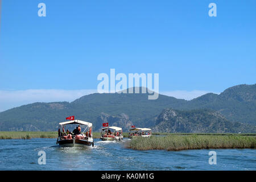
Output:
<svg viewBox="0 0 256 182">
<path fill-rule="evenodd" d="M 127 145 L 134 150 L 192 150 L 208 148 L 256 148 L 255 136 L 240 135 L 167 135 L 134 137 Z"/>
</svg>

